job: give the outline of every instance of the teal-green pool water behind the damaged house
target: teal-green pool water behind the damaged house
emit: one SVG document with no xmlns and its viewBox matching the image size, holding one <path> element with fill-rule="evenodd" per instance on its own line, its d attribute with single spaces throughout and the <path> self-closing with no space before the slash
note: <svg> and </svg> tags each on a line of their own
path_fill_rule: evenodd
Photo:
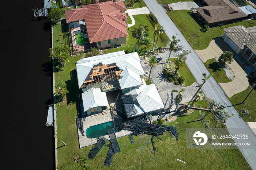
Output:
<svg viewBox="0 0 256 170">
<path fill-rule="evenodd" d="M 113 121 L 108 121 L 105 123 L 90 126 L 85 131 L 87 138 L 98 138 L 104 135 L 108 135 L 108 130 L 114 128 Z M 121 129 L 117 129 L 115 132 L 120 132 Z"/>
</svg>

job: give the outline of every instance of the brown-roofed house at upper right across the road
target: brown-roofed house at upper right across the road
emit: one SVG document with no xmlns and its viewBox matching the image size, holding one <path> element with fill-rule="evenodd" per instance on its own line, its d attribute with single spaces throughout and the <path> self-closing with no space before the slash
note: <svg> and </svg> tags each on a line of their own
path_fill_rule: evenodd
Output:
<svg viewBox="0 0 256 170">
<path fill-rule="evenodd" d="M 248 17 L 229 0 L 202 0 L 202 4 L 206 6 L 196 8 L 197 16 L 208 26 L 229 23 Z"/>
</svg>

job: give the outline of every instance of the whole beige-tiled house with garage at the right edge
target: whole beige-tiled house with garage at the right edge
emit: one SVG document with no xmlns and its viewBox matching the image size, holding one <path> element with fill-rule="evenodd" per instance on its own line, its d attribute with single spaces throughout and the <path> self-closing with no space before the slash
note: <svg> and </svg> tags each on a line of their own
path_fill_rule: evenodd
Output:
<svg viewBox="0 0 256 170">
<path fill-rule="evenodd" d="M 235 54 L 242 54 L 256 69 L 256 26 L 223 28 L 222 38 Z"/>
</svg>

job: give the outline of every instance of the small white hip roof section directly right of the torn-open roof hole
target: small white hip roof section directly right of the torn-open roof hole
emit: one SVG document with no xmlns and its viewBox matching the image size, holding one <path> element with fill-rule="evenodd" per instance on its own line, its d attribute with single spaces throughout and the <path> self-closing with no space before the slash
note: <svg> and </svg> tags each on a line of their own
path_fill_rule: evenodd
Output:
<svg viewBox="0 0 256 170">
<path fill-rule="evenodd" d="M 122 78 L 119 79 L 119 84 L 121 89 L 131 88 L 134 86 L 142 85 L 143 82 L 138 74 L 133 72 L 128 67 L 125 67 L 120 75 Z"/>
</svg>

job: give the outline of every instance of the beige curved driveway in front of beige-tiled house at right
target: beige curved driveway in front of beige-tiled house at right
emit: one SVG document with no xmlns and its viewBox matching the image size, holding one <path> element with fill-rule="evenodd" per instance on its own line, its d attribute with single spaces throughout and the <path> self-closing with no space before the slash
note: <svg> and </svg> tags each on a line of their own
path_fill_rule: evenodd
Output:
<svg viewBox="0 0 256 170">
<path fill-rule="evenodd" d="M 223 51 L 234 52 L 221 37 L 212 40 L 206 49 L 195 50 L 203 62 L 206 62 L 208 59 L 215 57 L 219 58 Z M 247 89 L 249 86 L 249 80 L 247 73 L 241 68 L 235 59 L 233 62 L 231 62 L 231 64 L 229 64 L 229 67 L 235 75 L 234 80 L 228 83 L 219 83 L 219 85 L 227 94 L 227 96 L 231 97 L 234 94 L 240 93 Z"/>
</svg>

